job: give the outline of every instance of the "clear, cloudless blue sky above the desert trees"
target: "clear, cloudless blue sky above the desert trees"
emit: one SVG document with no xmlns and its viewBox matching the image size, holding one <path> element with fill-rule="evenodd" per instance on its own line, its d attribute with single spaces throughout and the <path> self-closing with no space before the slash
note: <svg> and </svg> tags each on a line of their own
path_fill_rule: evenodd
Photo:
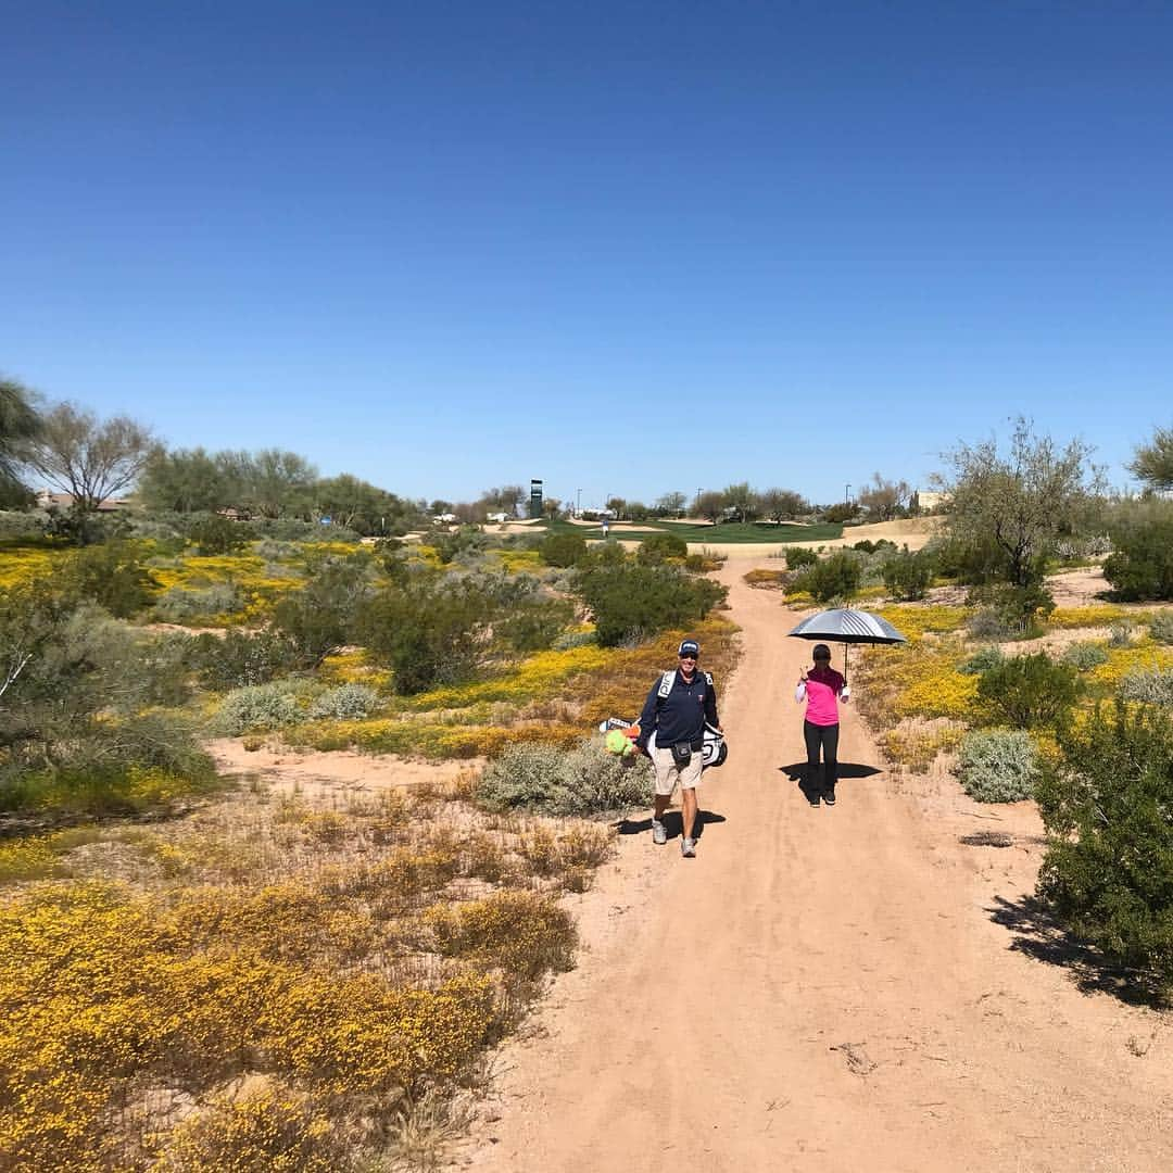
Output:
<svg viewBox="0 0 1173 1173">
<path fill-rule="evenodd" d="M 0 371 L 583 504 L 1173 422 L 1173 5 L 0 0 Z M 853 491 L 854 491 L 853 489 Z"/>
</svg>

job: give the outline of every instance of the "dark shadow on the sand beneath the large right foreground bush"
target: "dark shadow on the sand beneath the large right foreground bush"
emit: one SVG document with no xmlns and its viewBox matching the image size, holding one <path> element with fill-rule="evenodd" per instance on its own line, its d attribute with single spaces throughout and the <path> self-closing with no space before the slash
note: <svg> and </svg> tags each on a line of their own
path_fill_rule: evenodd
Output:
<svg viewBox="0 0 1173 1173">
<path fill-rule="evenodd" d="M 1160 984 L 1152 974 L 1114 965 L 1094 945 L 1065 929 L 1036 896 L 995 897 L 990 920 L 1013 935 L 1010 948 L 1047 965 L 1059 965 L 1083 994 L 1110 994 L 1130 1005 L 1160 1008 Z"/>
</svg>

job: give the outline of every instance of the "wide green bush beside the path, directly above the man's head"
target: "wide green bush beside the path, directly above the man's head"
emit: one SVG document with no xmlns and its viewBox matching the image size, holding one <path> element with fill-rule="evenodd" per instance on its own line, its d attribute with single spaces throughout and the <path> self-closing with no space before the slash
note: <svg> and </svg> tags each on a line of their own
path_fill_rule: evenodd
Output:
<svg viewBox="0 0 1173 1173">
<path fill-rule="evenodd" d="M 704 618 L 727 591 L 670 565 L 595 565 L 579 570 L 576 588 L 595 616 L 603 647 L 646 638 Z"/>
</svg>

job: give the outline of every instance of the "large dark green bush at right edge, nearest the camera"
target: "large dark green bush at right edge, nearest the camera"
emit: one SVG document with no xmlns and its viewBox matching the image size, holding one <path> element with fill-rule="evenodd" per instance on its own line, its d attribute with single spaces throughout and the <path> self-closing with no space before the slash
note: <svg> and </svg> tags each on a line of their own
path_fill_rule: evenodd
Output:
<svg viewBox="0 0 1173 1173">
<path fill-rule="evenodd" d="M 1037 787 L 1039 895 L 1105 956 L 1173 986 L 1173 724 L 1098 706 L 1059 733 Z"/>
</svg>

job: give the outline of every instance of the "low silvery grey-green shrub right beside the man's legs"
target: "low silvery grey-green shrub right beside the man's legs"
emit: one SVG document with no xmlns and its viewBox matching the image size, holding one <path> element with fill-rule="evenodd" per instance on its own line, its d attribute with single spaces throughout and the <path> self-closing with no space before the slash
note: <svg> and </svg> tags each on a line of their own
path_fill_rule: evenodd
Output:
<svg viewBox="0 0 1173 1173">
<path fill-rule="evenodd" d="M 484 768 L 477 801 L 490 811 L 584 815 L 628 811 L 651 800 L 646 758 L 608 753 L 598 738 L 574 750 L 541 743 L 510 746 Z"/>
</svg>

